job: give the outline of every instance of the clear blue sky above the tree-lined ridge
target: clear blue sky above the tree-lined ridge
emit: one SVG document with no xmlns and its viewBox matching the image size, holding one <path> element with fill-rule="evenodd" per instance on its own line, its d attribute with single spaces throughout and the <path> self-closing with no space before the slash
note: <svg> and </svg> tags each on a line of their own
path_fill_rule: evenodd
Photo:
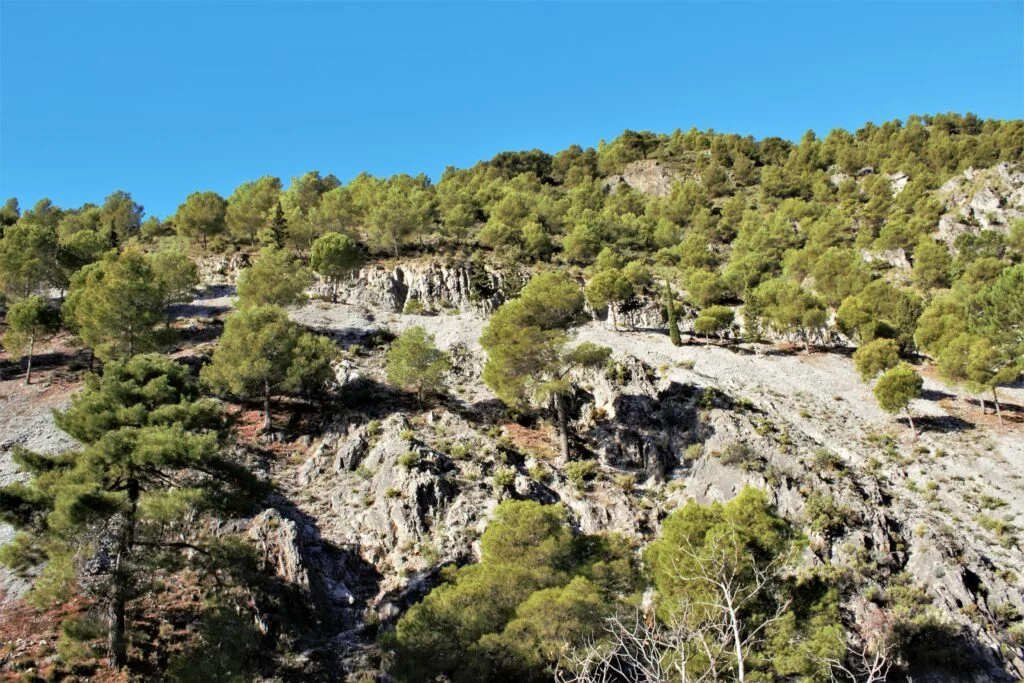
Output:
<svg viewBox="0 0 1024 683">
<path fill-rule="evenodd" d="M 1024 2 L 0 0 L 0 197 L 147 213 L 264 174 L 347 180 L 625 128 L 798 138 L 1024 118 Z"/>
</svg>

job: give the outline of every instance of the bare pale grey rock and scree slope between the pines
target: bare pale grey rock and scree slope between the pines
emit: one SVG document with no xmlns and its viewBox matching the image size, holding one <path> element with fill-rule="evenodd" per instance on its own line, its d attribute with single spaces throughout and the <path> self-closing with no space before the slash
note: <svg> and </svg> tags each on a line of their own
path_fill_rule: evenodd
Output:
<svg viewBox="0 0 1024 683">
<path fill-rule="evenodd" d="M 284 455 L 269 474 L 280 494 L 247 524 L 266 566 L 321 615 L 316 647 L 347 653 L 349 667 L 376 666 L 380 625 L 422 596 L 440 566 L 474 559 L 504 499 L 561 501 L 581 530 L 647 540 L 686 500 L 728 500 L 750 484 L 769 490 L 808 535 L 806 563 L 844 577 L 854 620 L 878 609 L 876 591 L 909 578 L 962 627 L 957 647 L 969 664 L 940 663 L 914 680 L 1024 673 L 1013 628 L 1024 610 L 1024 389 L 1005 392 L 999 427 L 972 398 L 928 379 L 911 405 L 924 424 L 913 438 L 877 408 L 843 353 L 674 347 L 664 330 L 595 321 L 579 340 L 613 356 L 578 378 L 573 450 L 593 463 L 583 468 L 558 456 L 550 424 L 512 421 L 481 382 L 477 340 L 502 300 L 503 275 L 486 273 L 488 296 L 474 293 L 474 278 L 433 262 L 371 267 L 341 303 L 292 311 L 347 349 L 337 367 L 340 403 L 279 434 Z M 230 309 L 229 285 L 208 293 L 181 314 L 199 324 Z M 439 312 L 400 312 L 411 299 Z M 436 403 L 385 382 L 386 339 L 413 325 L 454 360 Z M 57 377 L 28 389 L 5 383 L 4 452 L 67 446 L 48 409 L 69 390 Z M 4 467 L 7 480 L 16 476 Z M 24 586 L 7 589 L 14 596 Z"/>
</svg>

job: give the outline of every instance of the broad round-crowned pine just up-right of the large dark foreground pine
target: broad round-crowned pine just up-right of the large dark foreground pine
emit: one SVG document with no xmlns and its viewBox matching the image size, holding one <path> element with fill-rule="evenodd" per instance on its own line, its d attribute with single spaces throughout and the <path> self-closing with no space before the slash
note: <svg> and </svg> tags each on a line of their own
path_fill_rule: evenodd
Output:
<svg viewBox="0 0 1024 683">
<path fill-rule="evenodd" d="M 288 319 L 278 306 L 232 313 L 203 378 L 216 390 L 263 402 L 263 430 L 270 431 L 270 399 L 324 386 L 333 377 L 334 343 Z"/>
</svg>

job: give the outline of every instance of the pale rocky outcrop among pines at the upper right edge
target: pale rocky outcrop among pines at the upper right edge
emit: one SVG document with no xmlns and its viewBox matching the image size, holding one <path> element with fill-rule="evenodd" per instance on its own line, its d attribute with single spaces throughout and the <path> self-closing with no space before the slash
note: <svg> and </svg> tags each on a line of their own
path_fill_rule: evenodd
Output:
<svg viewBox="0 0 1024 683">
<path fill-rule="evenodd" d="M 967 169 L 950 178 L 939 194 L 946 213 L 937 237 L 953 247 L 956 238 L 984 229 L 1007 233 L 1010 224 L 1024 218 L 1024 170 L 1007 162 L 988 169 Z"/>
</svg>

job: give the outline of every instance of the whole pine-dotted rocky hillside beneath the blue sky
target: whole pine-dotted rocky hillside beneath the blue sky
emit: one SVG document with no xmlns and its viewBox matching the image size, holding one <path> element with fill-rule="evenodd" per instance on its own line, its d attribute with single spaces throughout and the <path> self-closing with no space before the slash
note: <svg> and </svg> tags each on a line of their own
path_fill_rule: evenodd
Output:
<svg viewBox="0 0 1024 683">
<path fill-rule="evenodd" d="M 76 210 L 8 203 L 6 309 L 37 294 L 62 304 L 63 321 L 40 323 L 33 384 L 10 352 L 23 351 L 11 315 L 0 355 L 0 484 L 49 482 L 5 489 L 0 511 L 50 544 L 33 547 L 34 564 L 5 556 L 18 571 L 0 574 L 0 671 L 583 683 L 600 670 L 572 657 L 603 642 L 612 616 L 642 613 L 659 637 L 683 638 L 669 596 L 703 604 L 686 591 L 707 580 L 683 579 L 685 553 L 668 569 L 658 553 L 680 520 L 695 523 L 686 515 L 753 505 L 757 489 L 765 510 L 729 522 L 749 553 L 735 561 L 757 575 L 767 552 L 744 523 L 766 539 L 792 529 L 778 531 L 792 555 L 740 610 L 744 654 L 721 654 L 711 680 L 737 680 L 738 661 L 751 680 L 1024 677 L 1022 162 L 1024 123 L 948 115 L 799 144 L 627 131 L 597 150 L 499 155 L 436 185 L 261 179 L 226 201 L 193 196 L 163 221 L 142 222 L 125 194 Z M 346 239 L 332 252 L 325 236 Z M 125 324 L 133 307 L 143 325 Z M 255 332 L 236 342 L 243 321 Z M 393 372 L 394 349 L 418 329 L 444 352 L 442 379 L 425 386 L 426 365 L 403 382 Z M 273 391 L 269 379 L 234 382 L 262 378 L 261 353 L 290 335 L 289 352 L 305 355 Z M 865 348 L 884 351 L 866 372 Z M 567 360 L 575 350 L 597 360 Z M 85 379 L 94 360 L 119 368 L 142 351 L 188 368 L 200 380 L 188 400 L 213 396 L 224 417 L 216 429 L 150 425 L 145 411 L 170 410 L 151 396 L 143 417 L 119 414 L 131 415 L 121 428 L 219 430 L 218 453 L 267 489 L 239 494 L 245 509 L 229 511 L 202 497 L 143 506 L 146 533 L 189 547 L 155 558 L 154 584 L 138 584 L 114 672 L 96 568 L 114 522 L 61 537 L 86 551 L 65 560 L 53 599 L 39 560 L 69 555 L 38 523 L 75 515 L 54 507 L 45 465 L 32 479 L 12 457 L 99 454 L 102 438 L 76 445 L 51 409 L 98 390 Z M 901 370 L 920 384 L 883 410 L 878 387 Z M 205 470 L 189 468 L 175 481 L 198 486 Z M 571 545 L 553 573 L 503 556 L 492 523 L 552 505 L 564 529 L 524 527 L 525 542 L 503 543 L 523 557 Z M 0 541 L 11 538 L 5 526 Z M 247 550 L 218 545 L 236 541 Z M 711 626 L 687 633 L 676 656 L 717 642 Z M 694 666 L 711 666 L 699 656 Z"/>
</svg>

